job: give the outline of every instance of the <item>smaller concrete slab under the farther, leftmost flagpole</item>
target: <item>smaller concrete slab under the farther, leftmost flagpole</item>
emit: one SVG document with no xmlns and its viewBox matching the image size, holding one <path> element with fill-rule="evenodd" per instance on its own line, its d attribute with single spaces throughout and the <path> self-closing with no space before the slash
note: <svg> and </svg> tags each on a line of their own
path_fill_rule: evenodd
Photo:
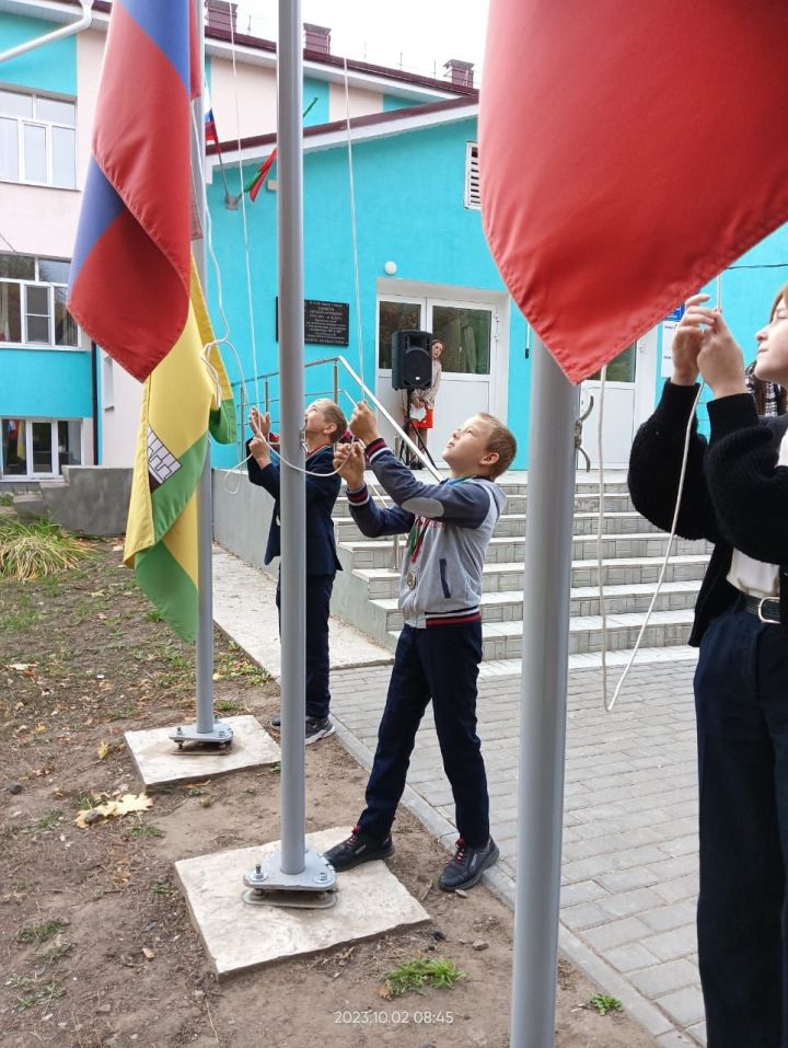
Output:
<svg viewBox="0 0 788 1048">
<path fill-rule="evenodd" d="M 126 732 L 126 745 L 146 786 L 215 779 L 241 768 L 276 764 L 280 760 L 279 746 L 255 717 L 222 717 L 221 723 L 233 730 L 232 746 L 229 749 L 206 748 L 199 752 L 188 746 L 182 750 L 177 748 L 170 738 L 176 724 L 169 728 Z"/>
</svg>

